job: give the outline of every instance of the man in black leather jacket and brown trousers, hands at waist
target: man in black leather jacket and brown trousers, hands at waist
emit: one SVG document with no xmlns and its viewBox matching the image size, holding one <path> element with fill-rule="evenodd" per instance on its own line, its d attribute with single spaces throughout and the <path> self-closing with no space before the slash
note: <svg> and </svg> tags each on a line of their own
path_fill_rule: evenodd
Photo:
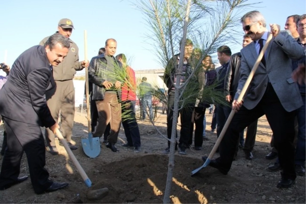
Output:
<svg viewBox="0 0 306 204">
<path fill-rule="evenodd" d="M 105 53 L 93 57 L 88 69 L 88 80 L 93 83 L 92 100 L 95 100 L 98 109 L 98 122 L 93 131 L 93 137 L 101 137 L 106 126 L 110 123 L 110 135 L 107 137 L 106 147 L 113 152 L 118 149 L 115 146 L 118 140 L 121 126 L 121 82 L 112 76 L 116 68 L 121 67 L 121 62 L 114 57 L 117 42 L 107 39 L 105 42 Z"/>
</svg>

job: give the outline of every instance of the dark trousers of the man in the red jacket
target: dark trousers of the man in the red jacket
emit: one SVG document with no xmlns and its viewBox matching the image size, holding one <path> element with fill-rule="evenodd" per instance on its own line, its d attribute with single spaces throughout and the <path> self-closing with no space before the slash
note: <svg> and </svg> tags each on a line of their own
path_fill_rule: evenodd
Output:
<svg viewBox="0 0 306 204">
<path fill-rule="evenodd" d="M 130 104 L 129 107 L 126 104 Z M 130 146 L 140 147 L 140 133 L 135 114 L 136 101 L 122 102 L 122 125 L 126 140 Z"/>
</svg>

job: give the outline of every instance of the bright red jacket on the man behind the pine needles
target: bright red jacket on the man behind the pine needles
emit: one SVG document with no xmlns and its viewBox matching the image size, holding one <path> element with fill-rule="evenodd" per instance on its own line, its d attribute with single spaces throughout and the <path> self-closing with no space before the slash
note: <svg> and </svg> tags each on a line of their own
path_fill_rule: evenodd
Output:
<svg viewBox="0 0 306 204">
<path fill-rule="evenodd" d="M 126 72 L 128 74 L 127 80 L 129 81 L 129 85 L 132 87 L 129 87 L 127 83 L 121 87 L 121 100 L 136 100 L 136 93 L 134 92 L 136 90 L 135 72 L 130 66 L 126 67 Z"/>
</svg>

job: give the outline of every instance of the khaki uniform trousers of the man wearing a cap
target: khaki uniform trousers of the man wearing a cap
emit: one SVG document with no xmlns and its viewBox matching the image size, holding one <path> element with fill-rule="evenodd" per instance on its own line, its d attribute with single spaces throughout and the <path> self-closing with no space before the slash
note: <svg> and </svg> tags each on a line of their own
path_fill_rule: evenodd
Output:
<svg viewBox="0 0 306 204">
<path fill-rule="evenodd" d="M 55 81 L 56 87 L 47 91 L 46 100 L 51 115 L 58 122 L 59 111 L 61 111 L 61 130 L 67 142 L 71 141 L 74 122 L 74 87 L 73 80 Z M 49 129 L 45 130 L 47 145 L 55 146 L 54 134 Z"/>
</svg>

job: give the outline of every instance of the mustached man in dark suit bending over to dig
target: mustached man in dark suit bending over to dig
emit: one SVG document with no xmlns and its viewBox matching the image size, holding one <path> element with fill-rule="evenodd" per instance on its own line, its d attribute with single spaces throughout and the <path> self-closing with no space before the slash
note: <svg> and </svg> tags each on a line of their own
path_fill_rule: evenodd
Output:
<svg viewBox="0 0 306 204">
<path fill-rule="evenodd" d="M 24 51 L 14 62 L 6 84 L 0 92 L 0 115 L 7 131 L 7 148 L 0 172 L 0 190 L 21 183 L 23 152 L 28 159 L 35 193 L 55 191 L 68 185 L 49 180 L 46 149 L 40 127 L 59 128 L 47 106 L 46 91 L 55 85 L 52 68 L 63 61 L 69 41 L 60 34 L 50 36 L 45 46 L 37 45 Z M 55 68 L 56 69 L 56 68 Z"/>
</svg>

